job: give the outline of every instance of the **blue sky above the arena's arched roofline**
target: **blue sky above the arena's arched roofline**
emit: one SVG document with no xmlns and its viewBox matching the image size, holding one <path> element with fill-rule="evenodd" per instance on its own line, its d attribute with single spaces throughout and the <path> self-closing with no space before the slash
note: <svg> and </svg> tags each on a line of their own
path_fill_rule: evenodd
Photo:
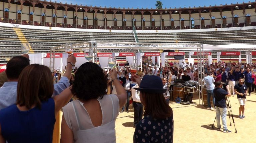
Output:
<svg viewBox="0 0 256 143">
<path fill-rule="evenodd" d="M 49 0 L 47 0 L 49 1 Z M 148 8 L 150 9 L 151 7 L 154 9 L 156 6 L 156 0 L 52 0 L 52 2 L 57 1 L 62 2 L 62 3 L 67 3 L 70 4 L 72 3 L 73 5 L 77 4 L 80 5 L 82 4 L 83 6 L 87 5 L 87 6 L 101 6 L 101 7 L 120 7 L 120 8 L 134 8 L 134 9 L 141 9 L 141 8 Z M 227 3 L 227 5 L 230 5 L 231 3 L 236 4 L 238 3 L 242 3 L 243 0 L 160 0 L 163 3 L 163 8 L 184 8 L 184 6 L 186 8 L 190 7 L 204 7 L 205 6 L 219 6 L 220 4 L 225 5 L 225 3 Z M 254 0 L 251 0 L 252 2 Z M 245 1 L 245 3 L 248 3 L 248 1 Z"/>
</svg>

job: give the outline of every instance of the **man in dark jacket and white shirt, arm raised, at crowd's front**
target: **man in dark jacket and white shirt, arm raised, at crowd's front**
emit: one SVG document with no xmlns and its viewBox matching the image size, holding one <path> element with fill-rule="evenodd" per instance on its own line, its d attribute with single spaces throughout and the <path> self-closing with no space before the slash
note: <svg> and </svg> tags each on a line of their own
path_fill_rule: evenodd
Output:
<svg viewBox="0 0 256 143">
<path fill-rule="evenodd" d="M 121 77 L 121 75 L 119 75 L 119 80 L 123 82 L 122 85 L 127 94 L 126 112 L 129 113 L 128 109 L 129 109 L 129 101 L 130 101 L 130 95 L 131 95 L 131 85 L 130 85 L 131 78 L 129 78 L 129 73 L 125 71 L 125 77 Z M 122 111 L 120 113 L 123 113 L 123 112 L 124 112 L 124 106 L 122 107 Z"/>
</svg>

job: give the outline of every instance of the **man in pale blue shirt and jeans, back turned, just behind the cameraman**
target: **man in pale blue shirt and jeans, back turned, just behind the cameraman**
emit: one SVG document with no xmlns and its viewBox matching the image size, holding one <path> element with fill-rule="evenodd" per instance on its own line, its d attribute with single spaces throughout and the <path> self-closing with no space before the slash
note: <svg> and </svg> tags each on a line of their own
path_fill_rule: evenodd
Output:
<svg viewBox="0 0 256 143">
<path fill-rule="evenodd" d="M 208 108 L 209 110 L 212 109 L 211 107 L 211 96 L 212 96 L 212 99 L 213 99 L 213 104 L 215 104 L 215 98 L 213 96 L 213 89 L 214 89 L 214 78 L 213 76 L 211 75 L 211 72 L 207 72 L 207 76 L 204 77 L 203 81 L 204 81 L 204 84 L 206 85 L 206 91 L 207 91 L 207 105 L 208 105 Z"/>
</svg>

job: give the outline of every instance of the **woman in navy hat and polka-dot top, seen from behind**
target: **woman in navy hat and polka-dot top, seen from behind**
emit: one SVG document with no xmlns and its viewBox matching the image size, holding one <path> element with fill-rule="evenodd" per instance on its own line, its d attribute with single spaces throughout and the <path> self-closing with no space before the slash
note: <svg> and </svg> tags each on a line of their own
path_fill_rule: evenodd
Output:
<svg viewBox="0 0 256 143">
<path fill-rule="evenodd" d="M 132 77 L 139 85 L 140 100 L 144 106 L 144 118 L 136 125 L 134 143 L 173 142 L 173 112 L 166 103 L 162 80 L 159 76 L 144 75 Z"/>
</svg>

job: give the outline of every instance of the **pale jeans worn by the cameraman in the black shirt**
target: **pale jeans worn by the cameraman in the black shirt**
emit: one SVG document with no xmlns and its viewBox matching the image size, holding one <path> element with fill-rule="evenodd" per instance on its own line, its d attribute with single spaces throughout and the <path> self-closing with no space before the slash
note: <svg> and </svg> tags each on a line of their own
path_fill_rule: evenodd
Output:
<svg viewBox="0 0 256 143">
<path fill-rule="evenodd" d="M 216 121 L 217 121 L 217 128 L 220 128 L 220 117 L 223 125 L 223 129 L 227 129 L 227 122 L 226 122 L 226 116 L 227 116 L 227 108 L 220 108 L 216 107 Z"/>
</svg>

